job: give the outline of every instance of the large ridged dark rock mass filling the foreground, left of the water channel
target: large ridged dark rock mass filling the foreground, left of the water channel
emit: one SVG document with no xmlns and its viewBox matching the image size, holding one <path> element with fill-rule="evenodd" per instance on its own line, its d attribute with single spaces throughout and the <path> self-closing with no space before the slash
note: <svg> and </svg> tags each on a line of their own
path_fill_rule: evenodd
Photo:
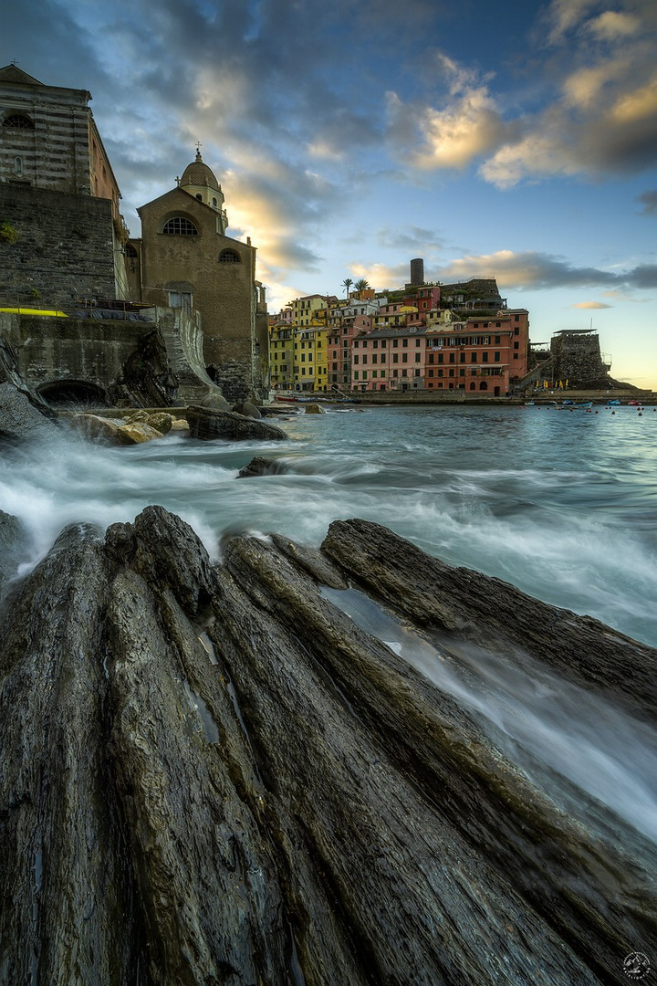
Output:
<svg viewBox="0 0 657 986">
<path fill-rule="evenodd" d="M 68 529 L 15 590 L 3 981 L 586 986 L 654 952 L 650 850 L 559 811 L 323 598 L 316 580 L 386 583 L 363 523 L 324 552 L 231 537 L 213 566 L 149 507 L 104 541 Z"/>
</svg>

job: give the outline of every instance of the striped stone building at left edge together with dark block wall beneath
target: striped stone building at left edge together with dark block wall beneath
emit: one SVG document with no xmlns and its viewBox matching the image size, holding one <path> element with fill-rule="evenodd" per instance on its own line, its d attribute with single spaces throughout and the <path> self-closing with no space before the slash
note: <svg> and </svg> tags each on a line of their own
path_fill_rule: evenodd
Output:
<svg viewBox="0 0 657 986">
<path fill-rule="evenodd" d="M 49 306 L 70 307 L 81 292 L 126 297 L 120 192 L 91 98 L 45 86 L 16 65 L 0 69 L 0 237 L 3 222 L 19 234 L 17 248 L 3 250 L 11 270 L 1 282 L 14 304 L 17 280 Z"/>
</svg>

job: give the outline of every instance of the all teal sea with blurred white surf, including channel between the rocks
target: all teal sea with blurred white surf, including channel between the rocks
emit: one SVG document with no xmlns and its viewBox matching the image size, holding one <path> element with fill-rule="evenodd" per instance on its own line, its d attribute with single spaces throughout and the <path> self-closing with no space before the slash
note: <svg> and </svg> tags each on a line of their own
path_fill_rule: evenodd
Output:
<svg viewBox="0 0 657 986">
<path fill-rule="evenodd" d="M 108 448 L 67 435 L 14 450 L 0 462 L 0 510 L 31 532 L 20 574 L 65 525 L 105 528 L 149 504 L 181 516 L 217 560 L 232 532 L 318 546 L 332 521 L 363 518 L 657 647 L 657 408 L 327 405 L 276 423 L 286 441 L 172 433 Z M 279 471 L 237 478 L 255 456 Z M 568 810 L 602 803 L 657 841 L 647 724 L 529 661 L 520 670 L 467 649 L 446 661 L 359 593 L 327 595 L 490 724 L 527 773 L 566 778 L 556 797 Z"/>
</svg>

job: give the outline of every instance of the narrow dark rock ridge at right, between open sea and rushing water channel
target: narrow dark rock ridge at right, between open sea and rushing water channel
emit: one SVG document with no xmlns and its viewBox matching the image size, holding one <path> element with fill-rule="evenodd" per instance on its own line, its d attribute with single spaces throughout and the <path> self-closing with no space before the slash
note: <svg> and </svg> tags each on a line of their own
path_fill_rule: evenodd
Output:
<svg viewBox="0 0 657 986">
<path fill-rule="evenodd" d="M 559 673 L 652 721 L 657 652 L 590 616 L 541 602 L 515 587 L 431 558 L 388 528 L 337 521 L 322 550 L 370 595 L 416 624 L 484 646 L 509 659 L 531 654 Z M 592 658 L 592 656 L 595 656 Z"/>
</svg>

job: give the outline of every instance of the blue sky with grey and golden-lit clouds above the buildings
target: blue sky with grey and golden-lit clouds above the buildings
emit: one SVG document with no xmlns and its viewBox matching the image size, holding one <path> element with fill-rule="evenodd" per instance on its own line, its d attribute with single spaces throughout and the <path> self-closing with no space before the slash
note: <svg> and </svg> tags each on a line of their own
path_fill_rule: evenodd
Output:
<svg viewBox="0 0 657 986">
<path fill-rule="evenodd" d="M 654 0 L 22 0 L 0 64 L 87 89 L 136 208 L 197 142 L 270 312 L 364 277 L 495 277 L 657 389 Z"/>
</svg>

